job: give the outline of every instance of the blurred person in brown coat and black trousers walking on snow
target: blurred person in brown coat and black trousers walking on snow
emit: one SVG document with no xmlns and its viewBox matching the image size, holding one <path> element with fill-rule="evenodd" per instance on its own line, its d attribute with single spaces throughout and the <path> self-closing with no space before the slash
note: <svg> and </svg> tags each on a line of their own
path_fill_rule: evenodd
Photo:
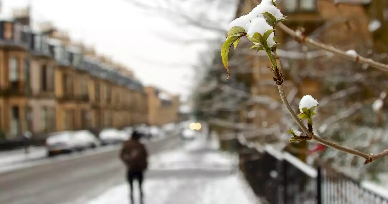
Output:
<svg viewBox="0 0 388 204">
<path fill-rule="evenodd" d="M 133 181 L 137 180 L 140 190 L 140 203 L 143 204 L 143 179 L 144 171 L 148 166 L 148 152 L 140 142 L 141 135 L 138 131 L 133 131 L 132 137 L 123 143 L 120 151 L 120 159 L 126 166 L 126 179 L 130 186 L 130 202 L 133 201 Z"/>
</svg>

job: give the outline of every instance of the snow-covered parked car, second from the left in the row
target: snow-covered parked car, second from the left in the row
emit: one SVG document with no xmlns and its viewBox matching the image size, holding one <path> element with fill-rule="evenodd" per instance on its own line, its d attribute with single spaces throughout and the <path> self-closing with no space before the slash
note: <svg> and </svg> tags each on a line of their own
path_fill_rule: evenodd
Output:
<svg viewBox="0 0 388 204">
<path fill-rule="evenodd" d="M 100 146 L 101 142 L 88 130 L 80 130 L 73 133 L 74 150 L 86 150 Z"/>
</svg>

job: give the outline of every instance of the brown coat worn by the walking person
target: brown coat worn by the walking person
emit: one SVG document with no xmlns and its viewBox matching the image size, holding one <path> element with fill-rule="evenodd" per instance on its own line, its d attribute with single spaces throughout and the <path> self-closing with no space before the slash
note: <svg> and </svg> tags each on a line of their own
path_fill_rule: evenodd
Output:
<svg viewBox="0 0 388 204">
<path fill-rule="evenodd" d="M 120 159 L 128 167 L 128 171 L 144 171 L 148 166 L 147 149 L 137 140 L 128 140 L 123 143 Z"/>
</svg>

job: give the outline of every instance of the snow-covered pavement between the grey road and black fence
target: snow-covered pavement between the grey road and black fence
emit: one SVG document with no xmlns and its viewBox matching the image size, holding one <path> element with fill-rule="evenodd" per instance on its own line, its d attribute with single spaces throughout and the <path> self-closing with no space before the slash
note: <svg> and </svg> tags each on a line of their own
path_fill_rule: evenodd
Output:
<svg viewBox="0 0 388 204">
<path fill-rule="evenodd" d="M 144 181 L 144 204 L 258 204 L 237 171 L 237 157 L 217 150 L 204 138 L 149 159 Z M 128 204 L 128 185 L 122 183 L 87 204 Z M 135 183 L 135 203 L 140 203 Z"/>
</svg>

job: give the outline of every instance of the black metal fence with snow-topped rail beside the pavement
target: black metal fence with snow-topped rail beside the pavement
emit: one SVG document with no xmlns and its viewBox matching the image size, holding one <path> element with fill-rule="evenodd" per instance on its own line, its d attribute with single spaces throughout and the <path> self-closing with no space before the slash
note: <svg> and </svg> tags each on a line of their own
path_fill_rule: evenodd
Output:
<svg viewBox="0 0 388 204">
<path fill-rule="evenodd" d="M 311 167 L 273 148 L 243 146 L 239 167 L 249 185 L 269 204 L 388 204 L 377 192 L 329 167 Z"/>
</svg>

